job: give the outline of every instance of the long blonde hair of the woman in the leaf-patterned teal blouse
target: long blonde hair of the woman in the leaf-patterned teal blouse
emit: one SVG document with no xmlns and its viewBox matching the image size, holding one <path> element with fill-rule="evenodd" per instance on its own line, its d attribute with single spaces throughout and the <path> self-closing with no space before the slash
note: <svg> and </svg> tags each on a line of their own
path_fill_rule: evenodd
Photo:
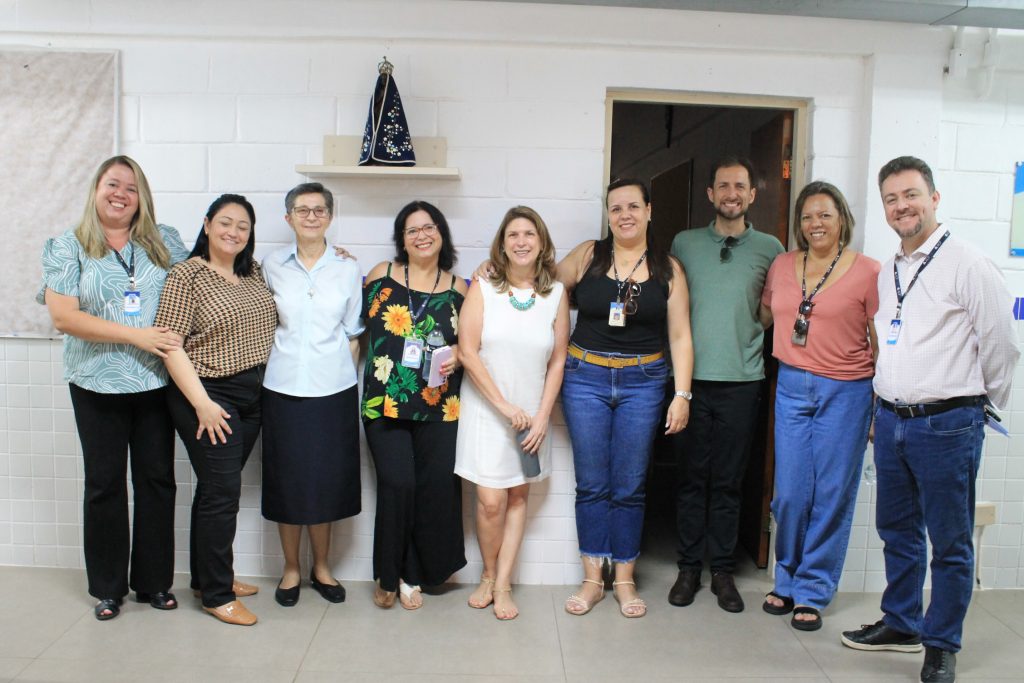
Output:
<svg viewBox="0 0 1024 683">
<path fill-rule="evenodd" d="M 131 157 L 118 156 L 111 157 L 96 169 L 89 185 L 89 195 L 85 201 L 85 211 L 82 212 L 82 220 L 75 228 L 75 237 L 82 244 L 82 250 L 91 258 L 102 258 L 106 256 L 106 236 L 103 234 L 103 226 L 99 222 L 99 215 L 96 213 L 96 187 L 103 174 L 113 166 L 125 166 L 135 174 L 135 186 L 138 189 L 138 211 L 131 219 L 129 234 L 131 240 L 145 250 L 146 255 L 153 263 L 164 270 L 171 267 L 171 253 L 164 245 L 164 240 L 160 236 L 157 227 L 157 219 L 153 210 L 153 194 L 150 191 L 150 182 L 145 179 L 142 169 Z"/>
</svg>

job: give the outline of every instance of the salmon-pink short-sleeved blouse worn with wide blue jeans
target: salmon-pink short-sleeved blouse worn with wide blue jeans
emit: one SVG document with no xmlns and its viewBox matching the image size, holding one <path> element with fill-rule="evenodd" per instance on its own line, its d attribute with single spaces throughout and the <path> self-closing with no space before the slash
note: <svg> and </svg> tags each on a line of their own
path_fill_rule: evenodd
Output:
<svg viewBox="0 0 1024 683">
<path fill-rule="evenodd" d="M 846 272 L 815 294 L 814 309 L 807 316 L 807 345 L 797 346 L 793 326 L 801 301 L 798 258 L 803 258 L 803 252 L 780 254 L 768 270 L 761 294 L 761 303 L 771 308 L 775 318 L 772 355 L 787 366 L 834 380 L 872 377 L 874 361 L 867 326 L 879 309 L 881 265 L 857 254 Z M 808 291 L 815 285 L 817 282 L 807 283 Z"/>
</svg>

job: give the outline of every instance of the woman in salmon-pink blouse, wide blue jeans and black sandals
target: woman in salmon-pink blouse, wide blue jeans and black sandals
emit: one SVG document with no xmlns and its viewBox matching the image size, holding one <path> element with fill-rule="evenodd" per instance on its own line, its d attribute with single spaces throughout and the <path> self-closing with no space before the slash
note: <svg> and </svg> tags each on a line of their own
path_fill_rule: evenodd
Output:
<svg viewBox="0 0 1024 683">
<path fill-rule="evenodd" d="M 774 319 L 775 590 L 764 610 L 821 628 L 850 540 L 870 425 L 878 338 L 879 262 L 849 249 L 853 215 L 843 194 L 815 181 L 797 198 L 799 249 L 772 263 L 761 297 Z"/>
</svg>

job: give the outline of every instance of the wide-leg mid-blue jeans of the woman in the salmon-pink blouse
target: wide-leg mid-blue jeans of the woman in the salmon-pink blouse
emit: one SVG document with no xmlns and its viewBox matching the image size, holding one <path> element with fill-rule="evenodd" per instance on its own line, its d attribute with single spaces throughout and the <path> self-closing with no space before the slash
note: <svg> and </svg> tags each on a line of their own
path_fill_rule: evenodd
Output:
<svg viewBox="0 0 1024 683">
<path fill-rule="evenodd" d="M 831 602 L 846 560 L 871 419 L 871 379 L 780 362 L 775 390 L 775 592 Z"/>
</svg>

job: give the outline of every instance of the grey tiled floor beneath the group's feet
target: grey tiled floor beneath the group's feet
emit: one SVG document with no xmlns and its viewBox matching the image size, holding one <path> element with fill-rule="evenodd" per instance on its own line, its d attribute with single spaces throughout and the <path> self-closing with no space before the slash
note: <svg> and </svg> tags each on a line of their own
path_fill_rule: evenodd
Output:
<svg viewBox="0 0 1024 683">
<path fill-rule="evenodd" d="M 0 567 L 0 681 L 918 680 L 920 654 L 840 644 L 841 631 L 879 617 L 877 594 L 841 594 L 824 628 L 808 634 L 761 611 L 763 571 L 740 572 L 740 614 L 719 609 L 707 587 L 693 605 L 670 606 L 673 577 L 671 562 L 647 562 L 645 618 L 620 616 L 610 595 L 572 616 L 562 609 L 569 588 L 523 587 L 515 591 L 521 614 L 508 623 L 467 607 L 468 586 L 426 596 L 416 612 L 375 607 L 368 583 L 347 583 L 340 605 L 306 587 L 286 609 L 273 602 L 275 582 L 262 579 L 259 595 L 246 599 L 260 623 L 242 628 L 202 612 L 185 577 L 176 578 L 178 610 L 128 602 L 99 623 L 81 571 Z M 959 680 L 1024 680 L 1024 591 L 976 595 Z"/>
</svg>

